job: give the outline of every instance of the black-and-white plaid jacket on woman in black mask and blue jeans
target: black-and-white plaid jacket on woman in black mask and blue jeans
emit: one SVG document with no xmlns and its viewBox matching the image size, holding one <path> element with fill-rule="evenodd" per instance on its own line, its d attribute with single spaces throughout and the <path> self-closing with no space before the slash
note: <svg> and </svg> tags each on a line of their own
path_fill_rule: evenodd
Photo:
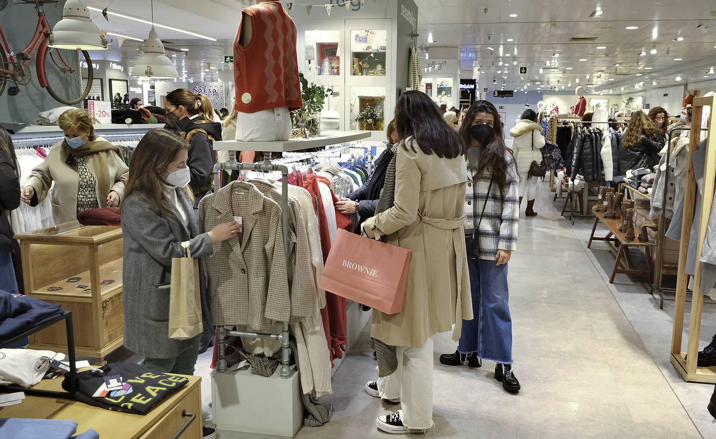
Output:
<svg viewBox="0 0 716 439">
<path fill-rule="evenodd" d="M 508 178 L 502 188 L 493 183 L 490 189 L 490 173 L 477 176 L 468 166 L 470 183 L 465 193 L 465 233 L 474 231 L 475 224 L 480 223 L 477 233 L 480 239 L 480 259 L 494 260 L 498 249 L 517 249 L 520 221 L 520 201 L 517 195 L 519 178 L 512 155 L 508 154 L 506 160 Z M 480 222 L 483 206 L 485 213 Z"/>
</svg>

